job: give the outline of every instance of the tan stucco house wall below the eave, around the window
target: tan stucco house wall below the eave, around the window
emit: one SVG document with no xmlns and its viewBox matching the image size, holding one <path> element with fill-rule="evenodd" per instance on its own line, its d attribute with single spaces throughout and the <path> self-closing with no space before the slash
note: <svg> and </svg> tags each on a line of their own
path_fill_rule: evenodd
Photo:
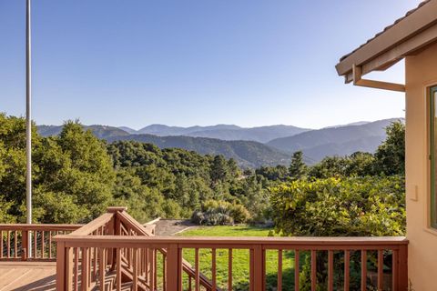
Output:
<svg viewBox="0 0 437 291">
<path fill-rule="evenodd" d="M 429 227 L 428 90 L 437 85 L 437 44 L 405 60 L 406 202 L 409 277 L 415 291 L 437 290 L 437 230 Z"/>
</svg>

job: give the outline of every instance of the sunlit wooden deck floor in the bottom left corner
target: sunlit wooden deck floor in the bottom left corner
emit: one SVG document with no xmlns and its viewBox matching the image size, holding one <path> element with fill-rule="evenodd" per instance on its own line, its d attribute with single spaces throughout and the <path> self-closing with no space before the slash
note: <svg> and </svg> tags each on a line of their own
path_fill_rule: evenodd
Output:
<svg viewBox="0 0 437 291">
<path fill-rule="evenodd" d="M 56 262 L 1 262 L 0 291 L 56 290 Z"/>
</svg>

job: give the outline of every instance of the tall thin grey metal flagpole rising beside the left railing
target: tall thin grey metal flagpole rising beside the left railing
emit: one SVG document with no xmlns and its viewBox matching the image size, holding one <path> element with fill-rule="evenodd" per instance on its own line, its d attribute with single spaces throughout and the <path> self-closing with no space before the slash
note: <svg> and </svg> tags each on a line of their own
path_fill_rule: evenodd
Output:
<svg viewBox="0 0 437 291">
<path fill-rule="evenodd" d="M 31 26 L 30 0 L 25 3 L 25 204 L 27 207 L 26 223 L 32 223 L 32 87 L 31 87 Z M 31 236 L 27 244 L 28 256 L 32 256 Z"/>
</svg>

